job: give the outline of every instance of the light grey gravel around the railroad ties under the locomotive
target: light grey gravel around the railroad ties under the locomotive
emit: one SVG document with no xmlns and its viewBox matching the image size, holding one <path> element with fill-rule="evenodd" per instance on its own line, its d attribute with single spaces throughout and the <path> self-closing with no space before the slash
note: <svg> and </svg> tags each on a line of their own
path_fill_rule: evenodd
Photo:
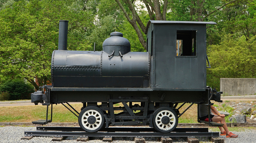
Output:
<svg viewBox="0 0 256 143">
<path fill-rule="evenodd" d="M 0 143 L 46 143 L 54 142 L 52 141 L 53 136 L 44 137 L 33 137 L 31 140 L 21 140 L 24 137 L 24 131 L 36 131 L 36 127 L 20 127 L 20 126 L 4 126 L 0 127 Z M 251 129 L 246 132 L 233 132 L 239 135 L 237 138 L 226 138 L 225 136 L 220 136 L 225 139 L 225 143 L 255 143 L 256 139 L 256 129 Z M 65 140 L 57 143 L 84 143 L 81 141 L 76 141 L 77 137 L 67 137 Z M 86 143 L 106 143 L 101 141 L 101 138 L 94 138 L 95 140 L 89 140 Z M 113 138 L 113 143 L 134 143 L 133 138 Z M 145 138 L 146 143 L 160 143 L 156 141 L 156 138 Z M 187 143 L 182 138 L 172 138 L 173 142 L 176 143 Z M 200 143 L 211 143 L 206 138 L 199 138 Z M 55 141 L 56 142 L 56 141 Z"/>
</svg>

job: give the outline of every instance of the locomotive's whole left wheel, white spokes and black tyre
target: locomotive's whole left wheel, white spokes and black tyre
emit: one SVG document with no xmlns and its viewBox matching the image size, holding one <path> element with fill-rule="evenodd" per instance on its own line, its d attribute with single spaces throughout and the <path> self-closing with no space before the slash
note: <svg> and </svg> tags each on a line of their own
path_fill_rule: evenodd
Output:
<svg viewBox="0 0 256 143">
<path fill-rule="evenodd" d="M 97 132 L 104 125 L 103 112 L 98 107 L 86 107 L 80 112 L 78 123 L 86 132 Z"/>
</svg>

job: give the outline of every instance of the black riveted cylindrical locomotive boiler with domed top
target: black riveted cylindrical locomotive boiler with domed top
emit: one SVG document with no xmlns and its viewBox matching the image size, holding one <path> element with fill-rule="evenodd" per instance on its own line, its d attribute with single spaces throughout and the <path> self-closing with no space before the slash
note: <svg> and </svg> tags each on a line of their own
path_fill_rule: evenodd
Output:
<svg viewBox="0 0 256 143">
<path fill-rule="evenodd" d="M 130 42 L 120 32 L 110 36 L 103 42 L 102 51 L 55 50 L 51 67 L 53 86 L 148 87 L 148 52 L 130 52 Z"/>
</svg>

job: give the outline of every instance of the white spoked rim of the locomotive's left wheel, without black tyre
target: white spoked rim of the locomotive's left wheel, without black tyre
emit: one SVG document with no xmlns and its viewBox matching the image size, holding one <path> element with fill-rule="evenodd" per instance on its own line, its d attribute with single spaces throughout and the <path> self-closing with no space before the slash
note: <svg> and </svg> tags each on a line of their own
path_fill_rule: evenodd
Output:
<svg viewBox="0 0 256 143">
<path fill-rule="evenodd" d="M 95 119 L 96 119 L 95 123 L 90 124 L 88 122 L 88 118 L 90 116 L 95 117 Z M 101 117 L 100 113 L 96 110 L 85 111 L 83 116 L 82 116 L 82 124 L 88 130 L 96 130 L 97 128 L 100 127 L 101 122 L 102 122 L 102 117 Z"/>
</svg>

